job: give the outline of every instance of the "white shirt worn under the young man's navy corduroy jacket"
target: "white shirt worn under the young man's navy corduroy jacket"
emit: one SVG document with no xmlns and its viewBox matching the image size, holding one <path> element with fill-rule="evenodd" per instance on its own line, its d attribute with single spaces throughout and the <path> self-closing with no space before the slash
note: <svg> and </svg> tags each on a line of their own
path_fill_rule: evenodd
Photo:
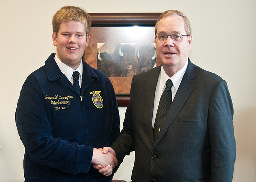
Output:
<svg viewBox="0 0 256 182">
<path fill-rule="evenodd" d="M 82 60 L 81 60 L 81 63 L 80 65 L 78 66 L 78 68 L 76 68 L 76 70 L 73 70 L 71 67 L 69 67 L 68 65 L 64 64 L 63 62 L 61 62 L 58 57 L 57 57 L 57 54 L 55 55 L 54 57 L 60 71 L 69 79 L 69 81 L 72 83 L 74 83 L 74 80 L 73 80 L 73 72 L 74 71 L 78 71 L 79 72 L 79 85 L 80 87 L 82 87 Z"/>
</svg>

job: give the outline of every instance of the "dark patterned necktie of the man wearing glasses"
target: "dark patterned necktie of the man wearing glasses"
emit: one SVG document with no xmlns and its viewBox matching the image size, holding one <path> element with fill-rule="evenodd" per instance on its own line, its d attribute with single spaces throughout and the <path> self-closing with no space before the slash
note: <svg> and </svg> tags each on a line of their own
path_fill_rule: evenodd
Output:
<svg viewBox="0 0 256 182">
<path fill-rule="evenodd" d="M 166 81 L 166 88 L 164 89 L 163 94 L 159 101 L 156 120 L 154 124 L 154 129 L 153 129 L 155 141 L 163 125 L 164 118 L 169 110 L 170 103 L 172 103 L 172 92 L 170 91 L 170 88 L 172 87 L 172 85 L 173 85 L 172 81 L 168 79 Z"/>
</svg>

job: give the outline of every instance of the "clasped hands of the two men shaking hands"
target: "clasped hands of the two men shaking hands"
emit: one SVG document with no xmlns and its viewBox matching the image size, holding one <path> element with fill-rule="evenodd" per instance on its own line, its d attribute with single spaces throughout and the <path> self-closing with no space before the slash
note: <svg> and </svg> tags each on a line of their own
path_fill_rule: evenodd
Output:
<svg viewBox="0 0 256 182">
<path fill-rule="evenodd" d="M 94 148 L 92 165 L 99 173 L 110 176 L 113 169 L 117 166 L 117 159 L 115 151 L 110 147 Z"/>
</svg>

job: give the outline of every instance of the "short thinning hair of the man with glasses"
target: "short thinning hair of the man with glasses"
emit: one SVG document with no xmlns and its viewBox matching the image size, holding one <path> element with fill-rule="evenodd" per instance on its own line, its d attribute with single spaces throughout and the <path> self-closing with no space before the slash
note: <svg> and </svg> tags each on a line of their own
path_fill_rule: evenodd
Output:
<svg viewBox="0 0 256 182">
<path fill-rule="evenodd" d="M 192 28 L 191 28 L 190 21 L 188 20 L 188 18 L 185 16 L 184 13 L 182 13 L 181 11 L 178 11 L 178 10 L 167 10 L 160 15 L 160 17 L 158 18 L 158 20 L 156 22 L 155 35 L 157 34 L 157 28 L 158 28 L 159 21 L 163 17 L 170 16 L 170 15 L 179 15 L 179 16 L 183 17 L 184 22 L 185 22 L 185 31 L 186 31 L 187 35 L 190 36 L 192 34 Z"/>
</svg>

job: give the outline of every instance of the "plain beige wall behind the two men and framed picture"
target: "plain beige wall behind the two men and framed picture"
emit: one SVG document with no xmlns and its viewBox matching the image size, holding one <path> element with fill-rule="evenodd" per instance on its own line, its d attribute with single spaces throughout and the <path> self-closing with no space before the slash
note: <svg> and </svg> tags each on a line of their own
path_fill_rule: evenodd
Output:
<svg viewBox="0 0 256 182">
<path fill-rule="evenodd" d="M 51 18 L 71 1 L 0 0 L 0 181 L 23 181 L 24 147 L 15 125 L 20 88 L 29 73 L 55 52 Z M 256 181 L 256 2 L 77 0 L 88 12 L 183 11 L 193 27 L 190 59 L 223 77 L 234 105 L 237 158 L 233 181 Z M 121 121 L 126 108 L 120 108 Z M 115 179 L 129 180 L 133 153 L 125 158 Z"/>
</svg>

